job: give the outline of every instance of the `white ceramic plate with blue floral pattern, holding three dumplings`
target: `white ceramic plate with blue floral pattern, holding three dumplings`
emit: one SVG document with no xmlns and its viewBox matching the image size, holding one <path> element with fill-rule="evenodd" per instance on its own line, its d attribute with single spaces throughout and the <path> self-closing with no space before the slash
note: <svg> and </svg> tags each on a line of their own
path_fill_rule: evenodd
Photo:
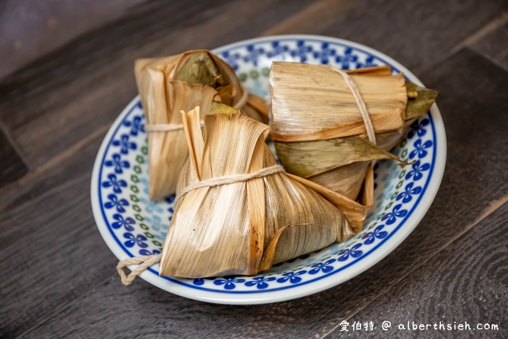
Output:
<svg viewBox="0 0 508 339">
<path fill-rule="evenodd" d="M 213 52 L 228 61 L 249 91 L 266 98 L 273 60 L 330 64 L 343 69 L 390 65 L 394 73 L 402 71 L 408 80 L 421 84 L 409 70 L 385 54 L 336 38 L 265 37 Z M 158 202 L 148 199 L 144 122 L 137 97 L 111 126 L 93 167 L 93 214 L 104 240 L 119 260 L 162 251 L 173 212 L 174 196 Z M 446 135 L 436 105 L 415 122 L 407 139 L 392 151 L 416 163 L 405 168 L 394 161 L 376 165 L 374 207 L 362 232 L 352 239 L 277 264 L 256 276 L 169 278 L 158 275 L 157 264 L 143 272 L 141 278 L 184 297 L 226 304 L 294 299 L 353 278 L 387 256 L 411 233 L 437 193 L 446 160 Z"/>
</svg>

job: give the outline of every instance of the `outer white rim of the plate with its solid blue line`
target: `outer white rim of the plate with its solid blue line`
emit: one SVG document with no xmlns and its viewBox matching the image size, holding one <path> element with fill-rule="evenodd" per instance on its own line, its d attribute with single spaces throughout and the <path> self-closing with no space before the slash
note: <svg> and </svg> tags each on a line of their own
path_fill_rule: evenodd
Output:
<svg viewBox="0 0 508 339">
<path fill-rule="evenodd" d="M 360 44 L 357 44 L 357 43 L 353 43 L 353 42 L 350 42 L 350 41 L 346 41 L 346 40 L 341 40 L 341 39 L 336 39 L 336 38 L 329 38 L 329 37 L 320 37 L 320 36 L 309 36 L 309 35 L 289 35 L 289 36 L 275 36 L 275 37 L 264 37 L 264 38 L 258 38 L 258 39 L 251 39 L 251 40 L 246 40 L 246 41 L 242 41 L 242 42 L 238 42 L 238 43 L 235 43 L 235 44 L 231 44 L 231 45 L 227 45 L 227 46 L 224 46 L 224 47 L 220 47 L 220 48 L 217 48 L 215 50 L 213 50 L 214 53 L 218 54 L 219 56 L 223 56 L 223 52 L 224 51 L 227 51 L 227 50 L 230 50 L 230 49 L 233 49 L 233 48 L 241 48 L 241 47 L 246 47 L 246 46 L 250 46 L 250 45 L 255 45 L 256 43 L 262 43 L 262 42 L 271 42 L 271 41 L 278 41 L 278 42 L 284 42 L 284 41 L 295 41 L 295 40 L 303 40 L 305 42 L 330 42 L 330 43 L 333 43 L 333 44 L 336 44 L 336 45 L 340 45 L 340 46 L 343 46 L 345 48 L 354 48 L 355 50 L 359 50 L 363 53 L 366 53 L 366 54 L 371 54 L 371 55 L 374 55 L 377 59 L 379 59 L 380 61 L 382 61 L 383 63 L 387 64 L 387 65 L 390 65 L 392 67 L 392 69 L 394 69 L 395 71 L 399 72 L 400 70 L 402 70 L 406 76 L 406 78 L 410 81 L 413 81 L 413 82 L 416 82 L 416 83 L 419 83 L 419 84 L 422 84 L 418 78 L 416 78 L 416 76 L 412 75 L 409 71 L 407 71 L 407 69 L 405 69 L 402 65 L 400 65 L 399 63 L 397 63 L 397 61 L 393 60 L 392 58 L 384 55 L 383 53 L 380 53 L 378 51 L 375 51 L 369 47 L 366 47 L 366 46 L 363 46 L 363 45 L 360 45 Z M 118 253 L 118 249 L 116 249 L 117 251 L 114 251 L 113 248 L 110 248 L 113 250 L 113 252 L 115 253 L 115 255 L 118 257 L 118 259 L 125 259 L 127 257 L 134 257 L 135 255 L 133 255 L 127 248 L 125 248 L 125 246 L 122 244 L 122 242 L 116 237 L 115 233 L 113 232 L 113 229 L 106 217 L 106 214 L 105 214 L 105 211 L 104 211 L 104 208 L 102 207 L 103 206 L 103 201 L 102 201 L 102 195 L 100 194 L 101 192 L 101 178 L 102 178 L 102 171 L 103 171 L 103 167 L 104 167 L 104 162 L 105 162 L 105 158 L 106 158 L 106 154 L 107 154 L 107 150 L 108 148 L 110 147 L 111 145 L 111 142 L 113 141 L 113 137 L 116 135 L 116 132 L 117 130 L 119 129 L 119 127 L 122 125 L 122 122 L 127 118 L 129 117 L 130 113 L 136 108 L 136 107 L 140 107 L 140 101 L 139 101 L 139 97 L 135 98 L 131 104 L 125 108 L 125 110 L 120 114 L 120 116 L 115 120 L 113 126 L 116 126 L 115 129 L 113 130 L 110 130 L 108 135 L 106 136 L 106 138 L 104 139 L 103 141 L 103 144 L 101 146 L 101 149 L 99 150 L 99 153 L 98 153 L 98 157 L 96 159 L 96 164 L 94 166 L 94 170 L 93 170 L 93 175 L 92 175 L 92 182 L 91 182 L 91 194 L 92 194 L 92 208 L 93 208 L 93 211 L 94 211 L 94 216 L 96 217 L 96 221 L 98 222 L 98 226 L 100 223 L 104 223 L 107 227 L 107 230 L 109 231 L 109 236 L 111 236 L 114 241 L 116 242 L 116 245 L 121 249 L 122 253 Z M 304 295 L 308 295 L 308 294 L 311 294 L 311 293 L 316 293 L 316 292 L 319 292 L 319 291 L 322 291 L 322 290 L 325 290 L 327 288 L 330 288 L 332 286 L 335 286 L 335 285 L 338 285 L 348 279 L 351 279 L 353 278 L 353 276 L 365 271 L 366 269 L 368 269 L 369 267 L 371 267 L 373 264 L 375 264 L 376 262 L 380 261 L 381 259 L 383 259 L 386 255 L 388 255 L 390 252 L 393 251 L 393 249 L 395 249 L 395 247 L 403 240 L 407 237 L 407 235 L 410 233 L 410 231 L 412 231 L 412 229 L 414 229 L 417 224 L 419 223 L 419 221 L 421 220 L 421 218 L 423 218 L 423 215 L 425 214 L 425 211 L 430 207 L 430 203 L 432 202 L 435 194 L 437 193 L 437 188 L 439 187 L 439 183 L 440 183 L 440 180 L 442 178 L 442 173 L 443 173 L 443 170 L 444 170 L 444 159 L 446 159 L 446 136 L 444 135 L 444 127 L 442 126 L 442 121 L 441 121 L 441 117 L 440 117 L 440 113 L 437 109 L 437 107 L 434 105 L 430 111 L 431 114 L 428 115 L 428 119 L 430 121 L 430 126 L 431 126 L 431 130 L 432 130 L 432 136 L 433 136 L 433 140 L 434 140 L 434 147 L 432 149 L 432 162 L 430 164 L 430 169 L 429 169 L 429 174 L 428 174 L 428 177 L 427 177 L 427 180 L 424 184 L 424 187 L 422 189 L 422 192 L 421 194 L 418 196 L 417 200 L 416 200 L 416 203 L 412 206 L 412 208 L 407 212 L 407 214 L 405 215 L 405 217 L 403 217 L 403 219 L 401 219 L 398 224 L 398 226 L 392 230 L 391 233 L 388 234 L 388 236 L 386 236 L 385 238 L 383 238 L 380 242 L 377 243 L 377 245 L 375 245 L 373 248 L 371 248 L 368 252 L 365 252 L 363 255 L 359 256 L 358 258 L 356 258 L 355 260 L 351 261 L 351 262 L 348 262 L 347 264 L 343 265 L 343 266 L 340 266 L 339 268 L 337 269 L 334 269 L 326 274 L 323 274 L 323 275 L 320 275 L 320 276 L 316 276 L 316 278 L 312 279 L 312 280 L 307 280 L 307 281 L 304 281 L 302 283 L 298 283 L 298 284 L 292 284 L 292 285 L 288 285 L 288 286 L 282 286 L 282 287 L 277 287 L 277 288 L 271 288 L 271 289 L 264 289 L 264 290 L 249 290 L 249 291 L 233 291 L 233 290 L 217 290 L 217 289 L 209 289 L 209 288 L 204 288 L 204 287 L 200 287 L 200 286 L 196 286 L 192 283 L 186 283 L 186 282 L 183 282 L 179 279 L 174 279 L 174 278 L 170 278 L 170 277 L 166 277 L 166 276 L 159 276 L 158 275 L 158 272 L 156 270 L 154 270 L 153 268 L 149 268 L 146 272 L 144 272 L 142 275 L 141 275 L 141 278 L 151 282 L 152 284 L 158 286 L 158 287 L 161 287 L 160 284 L 157 284 L 156 282 L 153 281 L 153 277 L 149 277 L 148 274 L 152 274 L 156 277 L 156 279 L 164 279 L 166 281 L 169 281 L 171 283 L 175 283 L 177 285 L 180 285 L 180 286 L 183 286 L 185 288 L 190 288 L 190 289 L 194 289 L 194 290 L 199 290 L 199 291 L 204 291 L 204 292 L 211 292 L 212 294 L 214 294 L 213 296 L 196 296 L 196 295 L 193 295 L 192 293 L 184 293 L 182 291 L 173 291 L 171 290 L 171 292 L 175 293 L 175 294 L 179 294 L 179 295 L 182 295 L 182 296 L 186 296 L 186 297 L 190 297 L 190 298 L 194 298 L 194 299 L 198 299 L 198 300 L 204 300 L 204 301 L 209 301 L 209 302 L 217 302 L 217 303 L 243 303 L 243 304 L 247 304 L 247 303 L 265 303 L 265 302 L 275 302 L 275 301 L 281 301 L 281 300 L 288 300 L 288 299 L 293 299 L 293 298 L 296 298 L 296 297 L 301 297 L 301 296 L 304 296 Z M 437 138 L 437 135 L 436 135 L 436 125 L 435 125 L 435 119 L 437 118 L 437 120 L 439 121 L 439 125 L 440 125 L 440 128 L 441 128 L 441 131 L 440 131 L 440 134 L 442 135 L 443 138 L 440 138 L 438 139 Z M 105 147 L 105 148 L 104 148 Z M 440 168 L 439 170 L 437 171 L 437 173 L 435 173 L 435 165 L 436 165 L 436 156 L 437 156 L 437 151 L 440 151 L 441 153 L 441 157 L 439 157 L 439 159 L 441 160 L 441 164 L 440 164 Z M 102 157 L 101 157 L 102 155 Z M 437 176 L 436 176 L 437 174 Z M 95 179 L 95 180 L 94 180 Z M 434 184 L 433 184 L 433 190 L 432 192 L 427 192 L 427 189 L 429 187 L 429 183 L 431 183 L 431 181 L 434 181 Z M 97 191 L 96 191 L 97 190 Z M 93 200 L 95 197 L 98 197 L 99 198 L 99 210 L 97 210 L 97 204 L 94 204 L 93 203 Z M 427 203 L 426 203 L 426 206 L 421 206 L 420 203 L 421 203 L 421 200 L 423 198 L 426 198 L 427 200 Z M 414 215 L 414 212 L 415 210 L 417 210 L 417 207 L 420 209 L 420 215 Z M 425 209 L 423 212 L 421 210 Z M 100 213 L 97 213 L 97 212 L 100 212 Z M 102 220 L 98 220 L 100 216 L 100 219 Z M 400 234 L 400 233 L 397 233 L 399 231 L 399 229 L 402 227 L 402 226 L 407 226 L 407 225 L 404 225 L 406 223 L 406 221 L 410 218 L 410 217 L 416 217 L 418 220 L 414 222 L 414 225 L 412 226 L 412 228 L 410 230 L 408 230 L 407 232 L 404 232 L 405 234 Z M 105 234 L 104 234 L 104 230 L 101 229 L 101 227 L 99 227 L 100 231 L 101 231 L 101 234 L 103 235 L 103 237 L 105 238 L 106 240 L 106 237 L 105 237 Z M 394 237 L 398 237 L 399 239 L 394 239 Z M 389 241 L 390 240 L 390 241 Z M 106 241 L 108 243 L 108 245 L 110 245 L 110 243 L 108 241 Z M 390 248 L 387 249 L 386 251 L 384 251 L 384 253 L 380 253 L 380 255 L 378 255 L 376 258 L 373 258 L 374 255 L 373 253 L 380 248 L 380 246 L 384 245 L 385 243 L 389 243 L 391 242 L 391 245 L 390 245 Z M 244 300 L 239 300 L 239 299 L 236 299 L 236 298 L 224 298 L 224 297 L 217 297 L 215 294 L 233 294 L 233 295 L 239 295 L 239 294 L 270 294 L 270 292 L 277 292 L 277 291 L 282 291 L 282 290 L 288 290 L 288 289 L 297 289 L 299 287 L 302 287 L 302 286 L 305 286 L 305 285 L 309 285 L 309 284 L 313 284 L 317 281 L 321 281 L 321 280 L 324 280 L 326 278 L 329 278 L 330 276 L 336 274 L 337 272 L 340 272 L 340 271 L 343 271 L 343 270 L 346 270 L 347 268 L 351 268 L 353 265 L 359 263 L 359 262 L 362 262 L 362 261 L 366 261 L 367 259 L 370 259 L 369 263 L 367 263 L 366 265 L 362 265 L 361 267 L 358 267 L 357 271 L 354 272 L 353 274 L 351 275 L 348 275 L 346 279 L 342 279 L 341 281 L 337 281 L 337 282 L 332 282 L 331 284 L 328 283 L 326 285 L 320 285 L 320 286 L 315 286 L 314 288 L 312 289 L 309 289 L 307 291 L 304 291 L 304 292 L 300 292 L 300 293 L 297 293 L 295 294 L 296 296 L 294 297 L 271 297 L 271 298 L 247 298 L 247 299 L 244 299 Z M 161 287 L 161 288 L 164 288 L 164 287 Z M 167 290 L 167 288 L 164 288 Z M 308 293 L 307 293 L 308 292 Z"/>
</svg>

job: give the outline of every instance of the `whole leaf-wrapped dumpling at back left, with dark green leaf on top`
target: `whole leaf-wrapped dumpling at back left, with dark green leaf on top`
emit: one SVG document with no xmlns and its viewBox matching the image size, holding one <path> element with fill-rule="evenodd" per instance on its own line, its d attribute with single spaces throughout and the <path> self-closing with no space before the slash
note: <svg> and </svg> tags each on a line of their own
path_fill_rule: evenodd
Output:
<svg viewBox="0 0 508 339">
<path fill-rule="evenodd" d="M 136 82 L 147 121 L 150 199 L 175 192 L 187 160 L 180 110 L 201 106 L 206 114 L 214 100 L 242 108 L 267 120 L 264 99 L 247 93 L 233 69 L 207 50 L 136 60 Z"/>
</svg>

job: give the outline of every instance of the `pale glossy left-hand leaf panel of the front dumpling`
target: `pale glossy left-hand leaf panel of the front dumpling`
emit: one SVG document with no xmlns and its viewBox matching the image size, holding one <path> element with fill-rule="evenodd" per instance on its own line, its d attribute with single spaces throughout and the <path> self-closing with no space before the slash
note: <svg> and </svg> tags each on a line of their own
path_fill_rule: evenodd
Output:
<svg viewBox="0 0 508 339">
<path fill-rule="evenodd" d="M 196 158 L 202 155 L 202 161 L 189 165 L 195 171 L 196 179 L 246 173 L 257 140 L 268 131 L 266 125 L 253 126 L 251 123 L 250 129 L 241 129 L 237 124 L 225 124 L 226 115 L 217 117 L 222 120 L 205 117 L 207 133 L 204 142 L 199 135 L 189 138 L 190 152 Z M 196 130 L 199 120 L 196 114 L 192 118 Z M 215 133 L 216 129 L 228 138 Z M 230 142 L 231 135 L 237 136 L 239 142 Z M 245 156 L 238 157 L 237 151 Z M 175 206 L 164 244 L 161 274 L 201 278 L 255 273 L 255 269 L 249 267 L 249 220 L 245 182 L 190 191 Z M 196 266 L 200 270 L 197 271 Z"/>
</svg>

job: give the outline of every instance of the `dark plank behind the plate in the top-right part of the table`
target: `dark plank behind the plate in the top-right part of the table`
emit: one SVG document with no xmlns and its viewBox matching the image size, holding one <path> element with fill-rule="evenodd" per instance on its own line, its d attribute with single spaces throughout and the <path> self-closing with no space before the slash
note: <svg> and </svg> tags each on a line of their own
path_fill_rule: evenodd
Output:
<svg viewBox="0 0 508 339">
<path fill-rule="evenodd" d="M 350 2 L 336 6 L 332 4 L 339 2 L 321 2 L 326 6 L 316 10 L 314 5 L 312 11 L 301 15 L 301 20 L 290 18 L 291 24 L 279 24 L 269 29 L 269 34 L 290 31 L 356 41 L 394 57 L 417 76 L 478 30 L 504 17 L 503 11 L 508 10 L 505 1 L 378 0 L 356 2 L 353 8 Z M 335 9 L 330 10 L 330 6 Z"/>
</svg>

